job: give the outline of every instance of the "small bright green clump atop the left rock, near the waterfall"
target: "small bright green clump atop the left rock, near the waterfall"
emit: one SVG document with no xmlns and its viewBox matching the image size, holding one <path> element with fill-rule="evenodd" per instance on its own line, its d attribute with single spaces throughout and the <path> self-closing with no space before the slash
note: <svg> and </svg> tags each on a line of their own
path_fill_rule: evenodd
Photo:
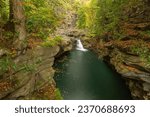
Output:
<svg viewBox="0 0 150 117">
<path fill-rule="evenodd" d="M 58 45 L 62 41 L 61 36 L 56 36 L 55 38 L 52 39 L 46 39 L 45 42 L 42 43 L 43 47 L 53 47 Z"/>
</svg>

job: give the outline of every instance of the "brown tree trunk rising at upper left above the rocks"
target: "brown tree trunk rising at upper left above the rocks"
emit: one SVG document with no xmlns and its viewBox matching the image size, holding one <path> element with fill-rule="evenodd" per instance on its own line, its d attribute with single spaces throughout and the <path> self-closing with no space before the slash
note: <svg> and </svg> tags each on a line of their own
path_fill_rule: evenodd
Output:
<svg viewBox="0 0 150 117">
<path fill-rule="evenodd" d="M 9 22 L 14 26 L 14 46 L 22 51 L 26 48 L 26 27 L 23 0 L 9 0 Z"/>
</svg>

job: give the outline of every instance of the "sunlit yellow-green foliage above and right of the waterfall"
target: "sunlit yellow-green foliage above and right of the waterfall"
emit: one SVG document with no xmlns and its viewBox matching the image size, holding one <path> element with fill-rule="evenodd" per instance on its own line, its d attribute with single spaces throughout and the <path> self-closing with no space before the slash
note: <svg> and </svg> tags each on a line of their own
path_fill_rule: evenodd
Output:
<svg viewBox="0 0 150 117">
<path fill-rule="evenodd" d="M 78 10 L 78 26 L 89 29 L 95 36 L 111 33 L 120 36 L 119 22 L 128 0 L 91 0 Z M 85 22 L 85 24 L 84 24 Z"/>
</svg>

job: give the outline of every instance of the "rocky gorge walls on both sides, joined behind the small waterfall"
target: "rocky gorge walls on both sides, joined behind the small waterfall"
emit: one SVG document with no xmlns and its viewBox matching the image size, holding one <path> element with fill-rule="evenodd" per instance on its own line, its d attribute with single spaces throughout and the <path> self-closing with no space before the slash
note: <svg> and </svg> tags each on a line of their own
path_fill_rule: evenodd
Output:
<svg viewBox="0 0 150 117">
<path fill-rule="evenodd" d="M 68 12 L 66 21 L 51 35 L 62 38 L 55 46 L 41 46 L 34 39 L 28 40 L 28 46 L 21 53 L 2 46 L 0 99 L 62 99 L 54 81 L 54 63 L 72 50 L 76 39 L 81 39 L 85 48 L 97 53 L 98 58 L 121 75 L 133 99 L 150 99 L 149 5 L 150 2 L 144 0 L 125 7 L 122 16 L 126 18 L 120 20 L 119 37 L 115 39 L 111 33 L 96 38 L 86 29 L 76 28 L 76 14 Z"/>
</svg>

